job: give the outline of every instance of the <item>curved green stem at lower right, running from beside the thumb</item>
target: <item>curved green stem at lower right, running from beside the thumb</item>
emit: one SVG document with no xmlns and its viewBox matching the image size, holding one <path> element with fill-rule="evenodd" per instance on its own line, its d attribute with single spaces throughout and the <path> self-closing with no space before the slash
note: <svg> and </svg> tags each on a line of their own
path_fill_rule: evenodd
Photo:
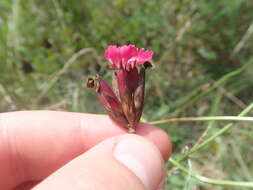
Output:
<svg viewBox="0 0 253 190">
<path fill-rule="evenodd" d="M 225 186 L 239 186 L 239 187 L 250 187 L 253 188 L 253 182 L 243 182 L 243 181 L 228 181 L 228 180 L 217 180 L 217 179 L 212 179 L 212 178 L 207 178 L 198 174 L 195 174 L 188 169 L 186 169 L 184 166 L 182 166 L 178 161 L 170 158 L 169 159 L 170 163 L 172 163 L 174 166 L 182 170 L 183 172 L 187 173 L 188 175 L 204 182 L 204 183 L 209 183 L 209 184 L 214 184 L 214 185 L 225 185 Z"/>
</svg>

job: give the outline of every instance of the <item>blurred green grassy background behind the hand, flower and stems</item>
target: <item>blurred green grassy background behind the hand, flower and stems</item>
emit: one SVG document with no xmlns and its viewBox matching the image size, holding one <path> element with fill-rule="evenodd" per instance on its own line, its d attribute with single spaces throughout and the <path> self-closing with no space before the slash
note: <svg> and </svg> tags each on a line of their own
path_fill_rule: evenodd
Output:
<svg viewBox="0 0 253 190">
<path fill-rule="evenodd" d="M 0 111 L 104 113 L 86 78 L 110 81 L 104 50 L 131 43 L 155 52 L 144 120 L 238 115 L 253 102 L 252 10 L 249 0 L 1 0 Z M 207 127 L 211 136 L 225 124 L 160 127 L 177 158 Z M 237 123 L 182 163 L 206 177 L 253 181 L 252 144 L 252 125 Z M 247 188 L 202 183 L 168 164 L 166 189 Z"/>
</svg>

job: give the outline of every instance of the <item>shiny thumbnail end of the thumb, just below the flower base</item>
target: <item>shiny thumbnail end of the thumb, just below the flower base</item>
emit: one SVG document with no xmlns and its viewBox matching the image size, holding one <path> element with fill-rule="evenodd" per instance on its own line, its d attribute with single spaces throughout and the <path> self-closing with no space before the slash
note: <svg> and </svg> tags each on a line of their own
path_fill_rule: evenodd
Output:
<svg viewBox="0 0 253 190">
<path fill-rule="evenodd" d="M 163 180 L 165 168 L 161 152 L 147 138 L 133 134 L 119 136 L 113 154 L 147 189 L 156 189 Z"/>
</svg>

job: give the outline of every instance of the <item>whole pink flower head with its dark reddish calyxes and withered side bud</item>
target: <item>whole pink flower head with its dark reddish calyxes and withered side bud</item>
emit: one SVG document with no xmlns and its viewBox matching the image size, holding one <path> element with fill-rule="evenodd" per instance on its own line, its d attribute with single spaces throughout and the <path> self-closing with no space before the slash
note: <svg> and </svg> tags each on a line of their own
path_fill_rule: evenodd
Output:
<svg viewBox="0 0 253 190">
<path fill-rule="evenodd" d="M 87 87 L 96 88 L 100 103 L 108 115 L 134 132 L 144 103 L 145 69 L 151 67 L 152 51 L 137 49 L 134 45 L 111 45 L 105 51 L 113 73 L 113 90 L 99 76 L 89 78 Z"/>
</svg>

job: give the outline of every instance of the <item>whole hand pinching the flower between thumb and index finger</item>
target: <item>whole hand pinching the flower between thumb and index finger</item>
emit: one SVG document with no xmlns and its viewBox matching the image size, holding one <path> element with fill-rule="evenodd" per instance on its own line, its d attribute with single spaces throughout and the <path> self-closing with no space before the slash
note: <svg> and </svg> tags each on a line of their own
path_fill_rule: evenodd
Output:
<svg viewBox="0 0 253 190">
<path fill-rule="evenodd" d="M 0 189 L 159 189 L 167 134 L 147 124 L 127 134 L 116 125 L 104 115 L 0 114 Z"/>
</svg>

